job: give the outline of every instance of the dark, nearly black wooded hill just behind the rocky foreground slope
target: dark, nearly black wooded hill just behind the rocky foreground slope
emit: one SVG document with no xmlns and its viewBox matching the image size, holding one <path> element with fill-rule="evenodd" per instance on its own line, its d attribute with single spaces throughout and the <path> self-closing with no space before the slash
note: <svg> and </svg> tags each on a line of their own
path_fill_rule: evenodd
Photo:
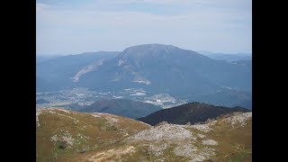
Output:
<svg viewBox="0 0 288 162">
<path fill-rule="evenodd" d="M 222 114 L 231 112 L 249 112 L 249 110 L 242 107 L 229 108 L 205 103 L 186 103 L 170 109 L 153 112 L 146 117 L 139 118 L 138 120 L 150 125 L 156 125 L 161 121 L 185 124 L 187 122 L 195 123 L 207 121 L 208 119 L 215 119 Z"/>
</svg>

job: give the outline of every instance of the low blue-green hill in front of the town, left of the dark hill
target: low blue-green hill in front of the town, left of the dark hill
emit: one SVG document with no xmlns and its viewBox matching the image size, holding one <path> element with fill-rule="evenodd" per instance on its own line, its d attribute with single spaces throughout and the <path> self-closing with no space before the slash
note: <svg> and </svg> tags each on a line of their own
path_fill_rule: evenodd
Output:
<svg viewBox="0 0 288 162">
<path fill-rule="evenodd" d="M 162 108 L 151 103 L 111 99 L 97 101 L 80 109 L 79 112 L 105 112 L 136 119 L 159 110 Z"/>
</svg>

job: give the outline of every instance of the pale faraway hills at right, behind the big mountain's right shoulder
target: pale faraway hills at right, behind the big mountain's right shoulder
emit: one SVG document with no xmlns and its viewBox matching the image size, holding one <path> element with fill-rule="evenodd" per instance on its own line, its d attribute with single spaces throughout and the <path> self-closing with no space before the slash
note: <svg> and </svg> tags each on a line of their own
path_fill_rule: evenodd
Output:
<svg viewBox="0 0 288 162">
<path fill-rule="evenodd" d="M 247 53 L 225 54 L 225 53 L 214 53 L 204 50 L 199 51 L 199 53 L 209 58 L 227 60 L 227 61 L 252 60 L 252 55 Z"/>
</svg>

